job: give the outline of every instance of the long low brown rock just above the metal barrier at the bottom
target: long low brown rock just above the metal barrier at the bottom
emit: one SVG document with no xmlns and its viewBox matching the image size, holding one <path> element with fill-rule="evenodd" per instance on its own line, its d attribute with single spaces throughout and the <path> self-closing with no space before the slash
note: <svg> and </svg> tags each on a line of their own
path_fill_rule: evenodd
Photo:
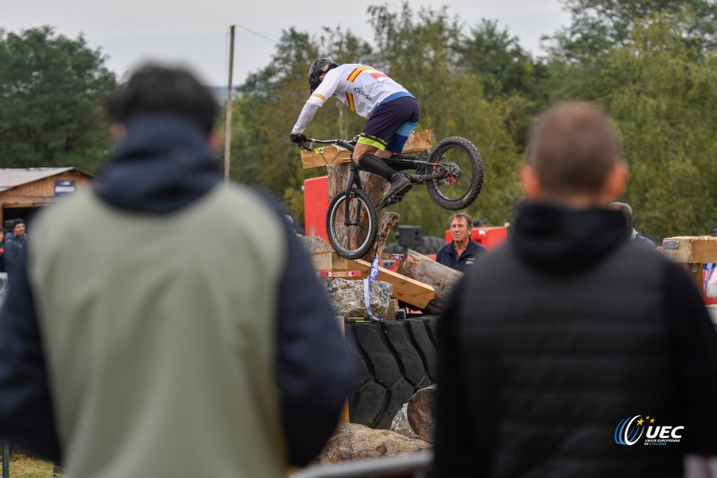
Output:
<svg viewBox="0 0 717 478">
<path fill-rule="evenodd" d="M 370 429 L 358 423 L 341 423 L 314 464 L 401 455 L 430 448 L 423 440 L 410 439 L 394 431 Z"/>
</svg>

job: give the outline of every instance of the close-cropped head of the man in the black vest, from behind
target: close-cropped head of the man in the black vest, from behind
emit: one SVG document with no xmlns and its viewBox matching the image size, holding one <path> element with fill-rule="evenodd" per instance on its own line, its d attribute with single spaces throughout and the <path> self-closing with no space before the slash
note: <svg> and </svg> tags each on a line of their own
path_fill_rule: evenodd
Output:
<svg viewBox="0 0 717 478">
<path fill-rule="evenodd" d="M 615 130 L 602 110 L 583 102 L 549 109 L 533 128 L 528 164 L 557 196 L 599 193 L 620 160 Z"/>
</svg>

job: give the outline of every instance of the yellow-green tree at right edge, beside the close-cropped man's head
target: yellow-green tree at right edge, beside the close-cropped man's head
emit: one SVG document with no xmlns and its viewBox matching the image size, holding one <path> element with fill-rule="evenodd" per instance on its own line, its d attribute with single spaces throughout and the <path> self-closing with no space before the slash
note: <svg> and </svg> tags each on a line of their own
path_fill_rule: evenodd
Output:
<svg viewBox="0 0 717 478">
<path fill-rule="evenodd" d="M 601 103 L 630 165 L 626 201 L 656 239 L 710 234 L 717 221 L 717 58 L 688 41 L 690 14 L 637 22 L 604 62 Z"/>
</svg>

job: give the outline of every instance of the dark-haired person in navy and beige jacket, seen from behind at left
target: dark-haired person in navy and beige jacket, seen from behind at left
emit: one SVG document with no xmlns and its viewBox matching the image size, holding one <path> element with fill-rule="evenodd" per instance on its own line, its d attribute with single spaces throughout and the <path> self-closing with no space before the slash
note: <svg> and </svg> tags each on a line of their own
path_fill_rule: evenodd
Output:
<svg viewBox="0 0 717 478">
<path fill-rule="evenodd" d="M 108 100 L 96 184 L 33 222 L 0 315 L 0 439 L 70 476 L 283 477 L 341 412 L 333 310 L 279 208 L 223 185 L 217 113 L 193 74 L 144 66 Z"/>
</svg>

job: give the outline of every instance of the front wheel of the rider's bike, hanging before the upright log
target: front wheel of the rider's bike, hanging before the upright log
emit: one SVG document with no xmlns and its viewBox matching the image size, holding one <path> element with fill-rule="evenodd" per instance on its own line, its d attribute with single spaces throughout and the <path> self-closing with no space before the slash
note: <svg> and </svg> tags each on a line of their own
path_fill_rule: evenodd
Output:
<svg viewBox="0 0 717 478">
<path fill-rule="evenodd" d="M 326 234 L 336 254 L 347 259 L 366 256 L 377 233 L 378 210 L 363 190 L 352 189 L 348 199 L 345 191 L 333 196 L 326 214 Z"/>
</svg>

